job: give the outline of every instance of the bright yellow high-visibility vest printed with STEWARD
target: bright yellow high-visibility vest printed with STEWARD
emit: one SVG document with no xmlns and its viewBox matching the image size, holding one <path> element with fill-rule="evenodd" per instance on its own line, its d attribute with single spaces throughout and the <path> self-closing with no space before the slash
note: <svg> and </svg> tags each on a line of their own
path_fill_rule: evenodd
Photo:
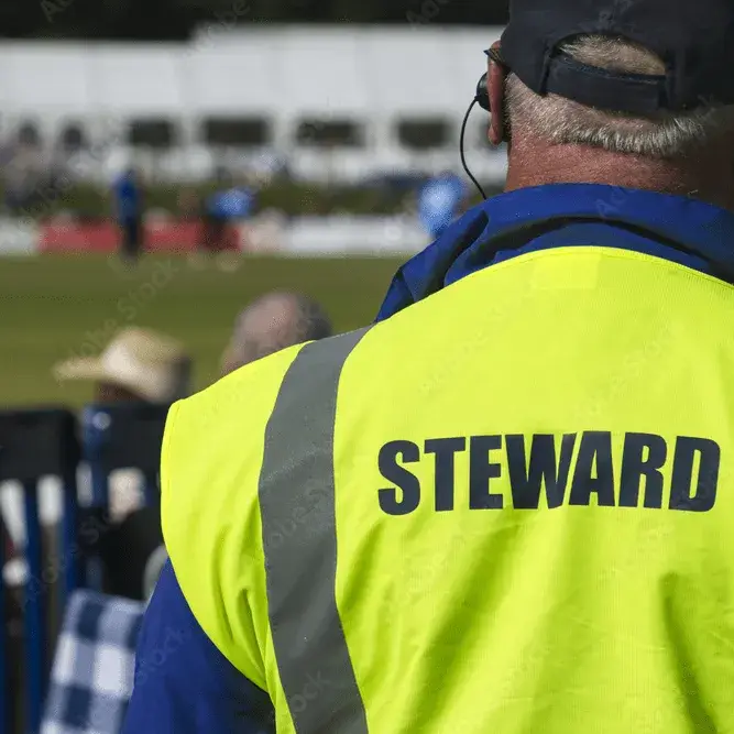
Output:
<svg viewBox="0 0 734 734">
<path fill-rule="evenodd" d="M 733 325 L 705 274 L 544 250 L 176 404 L 194 614 L 278 733 L 734 731 Z"/>
</svg>

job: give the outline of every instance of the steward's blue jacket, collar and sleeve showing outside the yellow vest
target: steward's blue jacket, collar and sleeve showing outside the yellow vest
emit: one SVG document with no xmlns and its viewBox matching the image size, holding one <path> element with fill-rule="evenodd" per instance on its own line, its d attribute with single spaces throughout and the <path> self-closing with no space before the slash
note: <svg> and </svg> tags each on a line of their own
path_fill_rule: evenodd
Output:
<svg viewBox="0 0 734 734">
<path fill-rule="evenodd" d="M 461 277 L 534 250 L 603 247 L 644 252 L 734 283 L 734 213 L 678 196 L 568 184 L 503 194 L 467 212 L 396 273 L 377 320 Z M 187 644 L 175 654 L 171 631 Z M 136 669 L 160 660 L 135 689 L 122 734 L 274 732 L 267 694 L 209 642 L 171 565 L 145 614 Z"/>
</svg>

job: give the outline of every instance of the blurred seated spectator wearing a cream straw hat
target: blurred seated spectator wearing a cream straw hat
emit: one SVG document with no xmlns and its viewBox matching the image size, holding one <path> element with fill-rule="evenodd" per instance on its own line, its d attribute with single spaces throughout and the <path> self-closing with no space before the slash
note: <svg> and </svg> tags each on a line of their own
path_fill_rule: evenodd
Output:
<svg viewBox="0 0 734 734">
<path fill-rule="evenodd" d="M 102 405 L 167 405 L 191 388 L 191 358 L 184 346 L 139 327 L 118 332 L 99 357 L 68 360 L 54 373 L 61 381 L 91 382 L 94 402 Z M 136 472 L 116 472 L 110 482 L 111 527 L 90 549 L 102 559 L 109 593 L 130 599 L 146 598 L 165 559 L 160 504 L 141 504 Z"/>
</svg>

